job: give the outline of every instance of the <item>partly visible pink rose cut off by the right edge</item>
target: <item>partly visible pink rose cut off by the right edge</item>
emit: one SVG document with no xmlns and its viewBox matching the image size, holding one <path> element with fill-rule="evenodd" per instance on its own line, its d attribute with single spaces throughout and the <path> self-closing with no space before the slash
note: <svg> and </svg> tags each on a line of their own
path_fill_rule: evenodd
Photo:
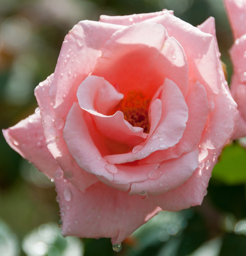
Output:
<svg viewBox="0 0 246 256">
<path fill-rule="evenodd" d="M 238 105 L 238 120 L 233 138 L 246 136 L 246 1 L 224 0 L 232 26 L 234 44 L 230 50 L 233 64 L 232 97 Z"/>
</svg>

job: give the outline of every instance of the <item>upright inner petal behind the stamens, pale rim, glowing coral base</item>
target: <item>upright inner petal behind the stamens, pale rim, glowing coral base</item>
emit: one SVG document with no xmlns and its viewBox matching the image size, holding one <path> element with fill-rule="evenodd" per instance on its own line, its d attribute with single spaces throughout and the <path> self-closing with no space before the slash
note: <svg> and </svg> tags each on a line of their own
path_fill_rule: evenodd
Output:
<svg viewBox="0 0 246 256">
<path fill-rule="evenodd" d="M 134 88 L 152 99 L 165 78 L 173 79 L 184 95 L 188 92 L 188 64 L 183 48 L 155 23 L 137 23 L 112 35 L 91 75 L 104 77 L 124 95 Z"/>
</svg>

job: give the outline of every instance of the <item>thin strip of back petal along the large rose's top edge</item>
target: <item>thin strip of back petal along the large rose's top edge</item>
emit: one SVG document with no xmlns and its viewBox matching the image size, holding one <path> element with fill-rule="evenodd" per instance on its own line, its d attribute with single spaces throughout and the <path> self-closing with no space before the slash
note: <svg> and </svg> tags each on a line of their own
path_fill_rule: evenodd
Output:
<svg viewBox="0 0 246 256">
<path fill-rule="evenodd" d="M 106 23 L 113 23 L 119 25 L 133 25 L 134 23 L 138 23 L 159 15 L 164 15 L 166 13 L 173 14 L 173 11 L 163 10 L 160 12 L 153 12 L 153 13 L 144 13 L 144 14 L 132 14 L 132 15 L 125 15 L 125 16 L 107 16 L 101 15 L 100 21 Z"/>
</svg>

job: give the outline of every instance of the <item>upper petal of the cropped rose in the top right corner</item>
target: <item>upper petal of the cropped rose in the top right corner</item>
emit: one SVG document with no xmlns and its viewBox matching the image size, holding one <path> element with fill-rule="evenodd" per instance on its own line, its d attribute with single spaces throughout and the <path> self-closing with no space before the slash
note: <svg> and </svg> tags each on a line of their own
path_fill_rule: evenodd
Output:
<svg viewBox="0 0 246 256">
<path fill-rule="evenodd" d="M 232 26 L 234 39 L 237 39 L 246 32 L 246 3 L 244 0 L 224 0 L 224 3 Z"/>
</svg>

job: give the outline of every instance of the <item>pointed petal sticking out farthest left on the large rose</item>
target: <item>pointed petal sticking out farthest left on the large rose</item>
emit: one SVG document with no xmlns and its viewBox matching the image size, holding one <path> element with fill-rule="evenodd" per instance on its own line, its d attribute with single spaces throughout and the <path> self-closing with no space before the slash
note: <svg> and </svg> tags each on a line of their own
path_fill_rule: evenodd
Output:
<svg viewBox="0 0 246 256">
<path fill-rule="evenodd" d="M 3 130 L 7 143 L 49 178 L 59 167 L 45 144 L 39 110 L 37 113 Z"/>
</svg>

